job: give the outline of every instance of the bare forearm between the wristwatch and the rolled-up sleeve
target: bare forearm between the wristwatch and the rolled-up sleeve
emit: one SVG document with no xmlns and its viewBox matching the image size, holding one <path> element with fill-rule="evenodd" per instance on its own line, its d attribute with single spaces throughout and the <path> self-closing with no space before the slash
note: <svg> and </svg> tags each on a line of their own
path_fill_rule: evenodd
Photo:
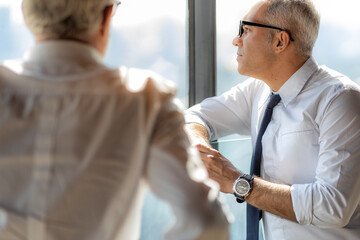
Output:
<svg viewBox="0 0 360 240">
<path fill-rule="evenodd" d="M 272 183 L 255 177 L 253 190 L 246 201 L 263 211 L 296 221 L 289 185 Z"/>
</svg>

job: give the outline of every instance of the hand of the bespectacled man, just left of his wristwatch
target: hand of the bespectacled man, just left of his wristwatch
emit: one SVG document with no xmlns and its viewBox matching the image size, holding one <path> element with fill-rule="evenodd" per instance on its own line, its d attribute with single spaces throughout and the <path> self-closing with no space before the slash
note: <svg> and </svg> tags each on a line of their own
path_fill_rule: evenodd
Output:
<svg viewBox="0 0 360 240">
<path fill-rule="evenodd" d="M 197 144 L 195 147 L 200 152 L 209 177 L 219 183 L 220 191 L 233 193 L 233 183 L 242 173 L 216 149 L 202 144 Z"/>
</svg>

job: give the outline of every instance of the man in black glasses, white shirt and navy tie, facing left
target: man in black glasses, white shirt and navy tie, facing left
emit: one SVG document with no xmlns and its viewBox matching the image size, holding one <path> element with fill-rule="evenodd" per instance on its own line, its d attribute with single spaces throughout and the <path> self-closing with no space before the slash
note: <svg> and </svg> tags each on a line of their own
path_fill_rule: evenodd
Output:
<svg viewBox="0 0 360 240">
<path fill-rule="evenodd" d="M 360 88 L 311 56 L 319 23 L 310 0 L 255 4 L 233 40 L 251 78 L 186 112 L 210 177 L 247 202 L 248 240 L 259 219 L 266 240 L 360 236 Z M 252 136 L 250 172 L 209 145 L 234 133 Z"/>
</svg>

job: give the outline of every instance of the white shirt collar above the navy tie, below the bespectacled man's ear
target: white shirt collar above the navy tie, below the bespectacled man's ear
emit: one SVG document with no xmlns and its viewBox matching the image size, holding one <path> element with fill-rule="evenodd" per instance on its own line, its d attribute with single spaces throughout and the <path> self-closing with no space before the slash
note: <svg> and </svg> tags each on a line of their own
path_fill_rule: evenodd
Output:
<svg viewBox="0 0 360 240">
<path fill-rule="evenodd" d="M 286 107 L 297 95 L 300 94 L 310 77 L 319 69 L 313 57 L 310 57 L 304 65 L 297 70 L 279 89 L 281 100 Z"/>
</svg>

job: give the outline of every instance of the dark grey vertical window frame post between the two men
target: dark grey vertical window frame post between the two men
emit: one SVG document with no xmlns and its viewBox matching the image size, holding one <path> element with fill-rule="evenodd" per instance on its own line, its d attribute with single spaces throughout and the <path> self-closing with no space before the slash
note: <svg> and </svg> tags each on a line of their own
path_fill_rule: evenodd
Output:
<svg viewBox="0 0 360 240">
<path fill-rule="evenodd" d="M 187 1 L 189 106 L 216 94 L 216 0 Z"/>
</svg>

